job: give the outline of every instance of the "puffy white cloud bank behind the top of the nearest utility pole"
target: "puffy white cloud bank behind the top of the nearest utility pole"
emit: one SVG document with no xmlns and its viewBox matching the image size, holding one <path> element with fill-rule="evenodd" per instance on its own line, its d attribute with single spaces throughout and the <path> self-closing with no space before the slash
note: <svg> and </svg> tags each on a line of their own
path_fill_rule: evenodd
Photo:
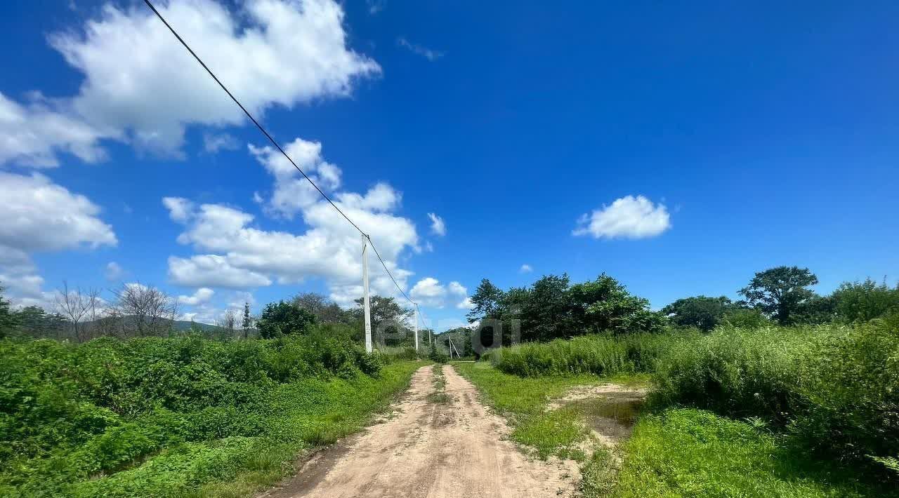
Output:
<svg viewBox="0 0 899 498">
<path fill-rule="evenodd" d="M 277 181 L 277 180 L 276 180 Z M 335 203 L 364 227 L 385 259 L 390 272 L 405 290 L 411 272 L 397 266 L 405 249 L 414 249 L 414 224 L 393 213 L 400 195 L 378 183 L 365 194 L 341 192 Z M 323 200 L 302 205 L 306 232 L 266 231 L 254 226 L 254 216 L 227 205 L 193 205 L 166 197 L 173 220 L 184 224 L 178 242 L 200 252 L 190 258 L 169 258 L 174 284 L 191 287 L 247 289 L 324 279 L 331 297 L 349 306 L 361 295 L 361 241 L 359 232 Z M 373 293 L 396 295 L 394 284 L 369 251 L 369 281 Z"/>
</svg>

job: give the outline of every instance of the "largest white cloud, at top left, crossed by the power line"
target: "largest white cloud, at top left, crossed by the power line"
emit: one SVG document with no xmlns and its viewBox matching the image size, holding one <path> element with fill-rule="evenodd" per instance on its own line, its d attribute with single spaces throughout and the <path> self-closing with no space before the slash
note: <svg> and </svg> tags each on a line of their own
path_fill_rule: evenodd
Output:
<svg viewBox="0 0 899 498">
<path fill-rule="evenodd" d="M 334 0 L 247 0 L 229 8 L 213 0 L 158 5 L 251 112 L 292 107 L 352 92 L 378 64 L 346 44 L 343 8 Z M 49 36 L 84 74 L 79 92 L 21 104 L 0 95 L 0 162 L 57 164 L 56 154 L 102 159 L 112 138 L 179 155 L 190 124 L 239 125 L 234 102 L 142 4 L 105 5 L 79 30 Z M 152 98 L 148 98 L 152 96 Z M 227 146 L 212 140 L 207 149 Z"/>
</svg>

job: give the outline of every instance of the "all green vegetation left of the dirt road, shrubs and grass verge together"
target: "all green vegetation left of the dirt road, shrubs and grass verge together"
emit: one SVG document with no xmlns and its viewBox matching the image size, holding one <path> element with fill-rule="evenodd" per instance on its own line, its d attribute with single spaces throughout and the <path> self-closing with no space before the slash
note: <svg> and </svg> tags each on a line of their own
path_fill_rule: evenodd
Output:
<svg viewBox="0 0 899 498">
<path fill-rule="evenodd" d="M 3 311 L 9 497 L 250 496 L 289 475 L 303 451 L 358 431 L 420 366 L 402 345 L 365 354 L 351 325 L 283 303 L 254 330 L 270 338 L 248 339 L 170 329 L 80 342 L 97 329 L 76 335 L 71 323 L 69 340 L 34 339 L 21 311 Z"/>
</svg>

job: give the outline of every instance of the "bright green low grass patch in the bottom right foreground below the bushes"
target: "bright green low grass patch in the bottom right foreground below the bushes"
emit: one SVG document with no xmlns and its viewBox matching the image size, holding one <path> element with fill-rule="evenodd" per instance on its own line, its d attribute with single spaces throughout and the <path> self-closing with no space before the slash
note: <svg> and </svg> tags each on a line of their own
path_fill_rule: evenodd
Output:
<svg viewBox="0 0 899 498">
<path fill-rule="evenodd" d="M 645 415 L 625 445 L 615 498 L 874 497 L 893 492 L 810 459 L 785 436 L 707 411 Z M 589 476 L 585 476 L 587 478 Z"/>
</svg>

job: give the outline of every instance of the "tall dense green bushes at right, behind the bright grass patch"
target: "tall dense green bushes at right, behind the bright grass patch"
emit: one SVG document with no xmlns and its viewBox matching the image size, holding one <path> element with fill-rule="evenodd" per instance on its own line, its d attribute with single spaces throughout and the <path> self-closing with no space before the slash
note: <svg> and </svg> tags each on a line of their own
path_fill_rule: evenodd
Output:
<svg viewBox="0 0 899 498">
<path fill-rule="evenodd" d="M 721 328 L 672 347 L 651 402 L 757 416 L 841 459 L 899 455 L 899 333 L 848 327 Z"/>
</svg>

